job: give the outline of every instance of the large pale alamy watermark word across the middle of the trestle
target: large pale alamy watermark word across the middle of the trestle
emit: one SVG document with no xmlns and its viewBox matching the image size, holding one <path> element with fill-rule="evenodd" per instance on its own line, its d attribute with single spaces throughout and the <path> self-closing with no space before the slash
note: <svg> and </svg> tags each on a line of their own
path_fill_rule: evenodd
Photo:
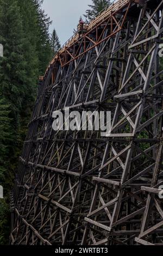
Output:
<svg viewBox="0 0 163 256">
<path fill-rule="evenodd" d="M 65 111 L 53 112 L 54 131 L 100 131 L 101 136 L 108 136 L 111 130 L 110 111 Z"/>
</svg>

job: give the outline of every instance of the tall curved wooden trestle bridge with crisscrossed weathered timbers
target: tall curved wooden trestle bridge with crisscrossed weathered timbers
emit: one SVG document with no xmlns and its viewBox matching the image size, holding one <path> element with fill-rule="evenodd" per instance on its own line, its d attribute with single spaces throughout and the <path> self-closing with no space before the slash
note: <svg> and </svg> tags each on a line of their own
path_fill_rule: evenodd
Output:
<svg viewBox="0 0 163 256">
<path fill-rule="evenodd" d="M 11 245 L 163 245 L 163 0 L 121 0 L 40 80 L 11 198 Z M 111 132 L 54 111 L 111 111 Z"/>
</svg>

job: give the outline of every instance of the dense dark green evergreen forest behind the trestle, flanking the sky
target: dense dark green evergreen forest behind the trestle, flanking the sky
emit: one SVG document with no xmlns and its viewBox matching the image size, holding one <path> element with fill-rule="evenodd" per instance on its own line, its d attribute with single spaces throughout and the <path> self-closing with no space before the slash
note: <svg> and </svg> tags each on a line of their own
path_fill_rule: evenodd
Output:
<svg viewBox="0 0 163 256">
<path fill-rule="evenodd" d="M 0 245 L 8 244 L 10 191 L 18 157 L 37 94 L 38 77 L 61 47 L 57 32 L 49 34 L 50 18 L 42 10 L 43 0 L 0 0 Z M 84 15 L 90 21 L 110 1 L 92 0 Z"/>
</svg>

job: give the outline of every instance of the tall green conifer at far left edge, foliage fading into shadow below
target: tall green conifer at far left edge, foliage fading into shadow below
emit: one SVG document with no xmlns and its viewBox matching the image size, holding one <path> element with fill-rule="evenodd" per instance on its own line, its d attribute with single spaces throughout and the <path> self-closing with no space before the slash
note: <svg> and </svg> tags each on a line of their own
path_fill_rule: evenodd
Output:
<svg viewBox="0 0 163 256">
<path fill-rule="evenodd" d="M 1 92 L 11 102 L 16 115 L 23 103 L 26 81 L 23 26 L 17 1 L 1 0 L 0 3 L 0 41 L 4 48 L 4 57 L 0 59 Z"/>
</svg>

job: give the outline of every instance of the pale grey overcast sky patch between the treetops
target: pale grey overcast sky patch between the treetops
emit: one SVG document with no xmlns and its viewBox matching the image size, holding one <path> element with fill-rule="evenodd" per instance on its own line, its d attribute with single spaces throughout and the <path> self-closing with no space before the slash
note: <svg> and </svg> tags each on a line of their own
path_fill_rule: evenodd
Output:
<svg viewBox="0 0 163 256">
<path fill-rule="evenodd" d="M 50 33 L 56 29 L 61 45 L 72 35 L 77 27 L 80 15 L 85 13 L 91 0 L 44 0 L 43 9 L 53 21 Z"/>
</svg>

